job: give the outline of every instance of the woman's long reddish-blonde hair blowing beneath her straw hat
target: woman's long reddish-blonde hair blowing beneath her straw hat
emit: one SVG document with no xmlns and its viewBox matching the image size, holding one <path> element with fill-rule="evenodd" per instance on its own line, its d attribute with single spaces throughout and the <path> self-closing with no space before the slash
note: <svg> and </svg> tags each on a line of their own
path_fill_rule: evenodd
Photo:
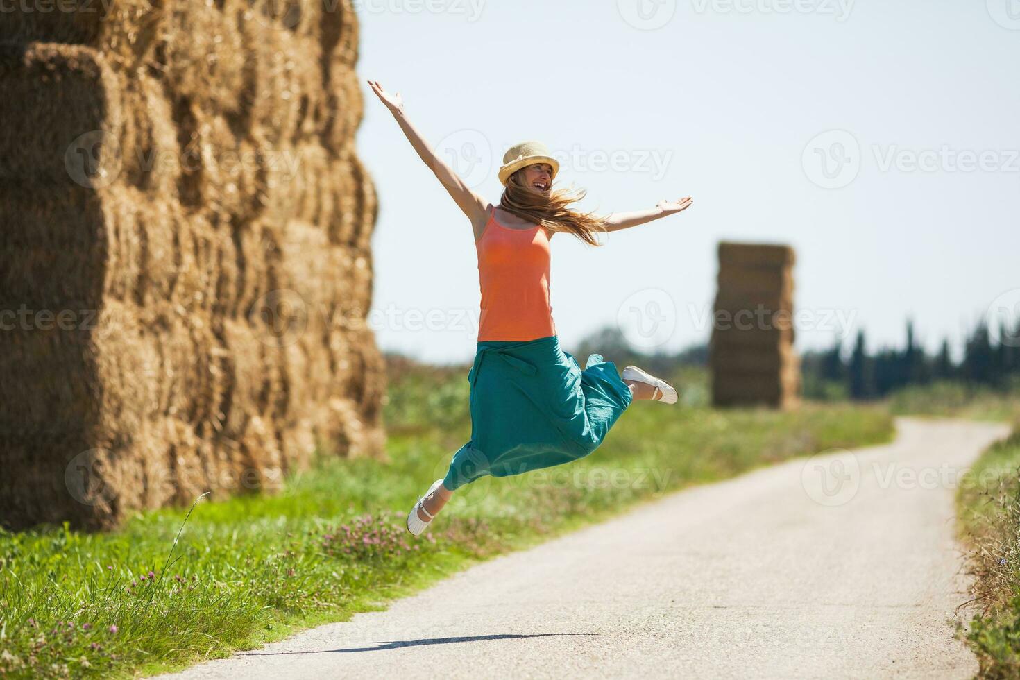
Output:
<svg viewBox="0 0 1020 680">
<path fill-rule="evenodd" d="M 572 233 L 590 246 L 601 246 L 594 233 L 606 230 L 606 220 L 594 213 L 579 213 L 567 206 L 584 198 L 583 189 L 557 189 L 549 196 L 539 194 L 524 186 L 524 169 L 507 179 L 500 198 L 500 207 L 532 224 L 542 224 L 551 231 Z"/>
</svg>

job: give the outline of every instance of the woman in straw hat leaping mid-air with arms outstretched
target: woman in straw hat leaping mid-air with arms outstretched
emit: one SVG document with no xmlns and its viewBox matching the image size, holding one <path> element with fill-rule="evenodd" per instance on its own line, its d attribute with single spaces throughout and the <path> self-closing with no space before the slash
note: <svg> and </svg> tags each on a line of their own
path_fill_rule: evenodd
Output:
<svg viewBox="0 0 1020 680">
<path fill-rule="evenodd" d="M 483 475 L 506 477 L 588 456 L 634 400 L 676 403 L 676 389 L 638 368 L 622 374 L 600 355 L 584 370 L 560 348 L 549 298 L 554 233 L 572 233 L 598 246 L 594 233 L 618 231 L 672 215 L 692 199 L 661 201 L 652 210 L 607 217 L 568 209 L 584 192 L 553 191 L 559 163 L 538 142 L 511 147 L 503 157 L 499 205 L 475 194 L 432 153 L 404 114 L 400 93 L 368 81 L 421 160 L 471 221 L 478 254 L 481 314 L 470 382 L 471 438 L 453 457 L 407 515 L 419 535 L 453 492 Z"/>
</svg>

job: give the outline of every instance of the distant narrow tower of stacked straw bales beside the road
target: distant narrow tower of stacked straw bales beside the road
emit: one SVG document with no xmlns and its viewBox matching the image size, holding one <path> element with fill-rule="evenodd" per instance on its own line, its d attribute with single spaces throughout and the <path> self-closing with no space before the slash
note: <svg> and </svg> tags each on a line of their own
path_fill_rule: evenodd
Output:
<svg viewBox="0 0 1020 680">
<path fill-rule="evenodd" d="M 794 352 L 794 249 L 719 244 L 709 365 L 716 406 L 800 403 Z"/>
</svg>

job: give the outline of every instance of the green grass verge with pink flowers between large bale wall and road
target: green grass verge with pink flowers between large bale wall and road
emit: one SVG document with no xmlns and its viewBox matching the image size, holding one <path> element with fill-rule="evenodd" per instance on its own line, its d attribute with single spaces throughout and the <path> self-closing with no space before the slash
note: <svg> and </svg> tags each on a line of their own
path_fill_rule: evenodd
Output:
<svg viewBox="0 0 1020 680">
<path fill-rule="evenodd" d="M 684 371 L 683 408 L 635 404 L 591 457 L 478 480 L 412 539 L 407 510 L 470 432 L 466 373 L 396 367 L 387 461 L 323 460 L 275 495 L 143 513 L 111 533 L 0 532 L 0 675 L 131 676 L 227 656 L 693 483 L 891 436 L 876 408 L 713 411 L 704 373 Z"/>
</svg>

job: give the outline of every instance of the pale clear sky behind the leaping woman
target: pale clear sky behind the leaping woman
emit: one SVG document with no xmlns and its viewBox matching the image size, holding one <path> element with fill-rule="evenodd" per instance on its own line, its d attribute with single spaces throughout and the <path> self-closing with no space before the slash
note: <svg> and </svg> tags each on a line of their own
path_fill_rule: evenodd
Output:
<svg viewBox="0 0 1020 680">
<path fill-rule="evenodd" d="M 493 203 L 504 151 L 531 139 L 583 209 L 694 197 L 598 249 L 556 236 L 567 348 L 635 306 L 664 320 L 647 348 L 703 342 L 721 240 L 796 248 L 801 350 L 859 327 L 899 344 L 908 316 L 929 349 L 959 343 L 1020 289 L 1010 1 L 356 1 L 380 347 L 469 360 L 479 293 L 467 219 L 366 79 Z"/>
</svg>

